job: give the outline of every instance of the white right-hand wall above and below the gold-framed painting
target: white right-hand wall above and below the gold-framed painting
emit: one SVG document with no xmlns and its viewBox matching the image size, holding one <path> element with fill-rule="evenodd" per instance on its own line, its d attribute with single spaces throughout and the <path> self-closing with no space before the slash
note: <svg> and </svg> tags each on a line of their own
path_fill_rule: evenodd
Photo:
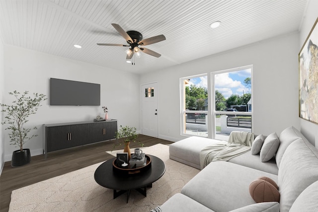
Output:
<svg viewBox="0 0 318 212">
<path fill-rule="evenodd" d="M 304 45 L 307 36 L 309 35 L 314 23 L 318 17 L 318 1 L 317 0 L 309 0 L 307 4 L 307 11 L 305 12 L 306 16 L 304 16 L 303 24 L 300 30 L 300 43 L 299 43 L 299 51 Z M 300 119 L 301 132 L 306 135 L 306 138 L 313 144 L 316 143 L 316 147 L 318 147 L 318 125 L 306 121 L 304 119 Z"/>
</svg>

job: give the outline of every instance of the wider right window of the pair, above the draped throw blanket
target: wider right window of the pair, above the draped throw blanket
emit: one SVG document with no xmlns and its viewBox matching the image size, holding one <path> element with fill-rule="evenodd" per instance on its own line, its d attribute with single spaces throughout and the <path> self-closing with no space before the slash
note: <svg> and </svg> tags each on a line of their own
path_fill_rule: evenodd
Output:
<svg viewBox="0 0 318 212">
<path fill-rule="evenodd" d="M 213 138 L 228 141 L 232 131 L 252 132 L 252 66 L 211 75 Z"/>
</svg>

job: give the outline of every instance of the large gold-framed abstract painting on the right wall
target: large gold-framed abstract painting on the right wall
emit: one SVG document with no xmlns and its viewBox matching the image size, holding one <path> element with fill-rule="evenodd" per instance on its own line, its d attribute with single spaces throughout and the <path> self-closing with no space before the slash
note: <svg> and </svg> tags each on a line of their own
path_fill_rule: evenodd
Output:
<svg viewBox="0 0 318 212">
<path fill-rule="evenodd" d="M 318 124 L 318 18 L 299 55 L 299 117 Z"/>
</svg>

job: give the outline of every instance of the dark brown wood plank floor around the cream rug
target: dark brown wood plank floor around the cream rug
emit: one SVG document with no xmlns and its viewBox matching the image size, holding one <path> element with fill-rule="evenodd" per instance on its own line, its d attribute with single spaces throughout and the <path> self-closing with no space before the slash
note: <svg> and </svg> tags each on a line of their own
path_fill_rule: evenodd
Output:
<svg viewBox="0 0 318 212">
<path fill-rule="evenodd" d="M 139 135 L 138 140 L 144 146 L 172 143 L 144 135 Z M 0 212 L 9 210 L 11 191 L 111 159 L 113 156 L 105 151 L 124 148 L 123 145 L 113 148 L 114 143 L 116 140 L 49 152 L 46 161 L 44 155 L 33 156 L 29 164 L 18 168 L 12 168 L 10 161 L 5 162 L 0 177 Z M 138 142 L 130 143 L 131 148 L 139 146 Z"/>
</svg>

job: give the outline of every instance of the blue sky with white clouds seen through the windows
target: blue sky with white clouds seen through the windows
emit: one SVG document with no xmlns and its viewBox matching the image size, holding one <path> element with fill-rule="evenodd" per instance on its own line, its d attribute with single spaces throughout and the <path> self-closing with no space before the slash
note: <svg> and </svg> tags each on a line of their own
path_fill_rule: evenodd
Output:
<svg viewBox="0 0 318 212">
<path fill-rule="evenodd" d="M 246 88 L 244 79 L 251 77 L 251 70 L 232 71 L 215 74 L 216 90 L 221 92 L 225 98 L 232 94 L 243 95 L 243 93 L 250 93 L 250 88 Z M 208 87 L 207 76 L 191 78 L 190 83 L 197 86 Z"/>
</svg>

